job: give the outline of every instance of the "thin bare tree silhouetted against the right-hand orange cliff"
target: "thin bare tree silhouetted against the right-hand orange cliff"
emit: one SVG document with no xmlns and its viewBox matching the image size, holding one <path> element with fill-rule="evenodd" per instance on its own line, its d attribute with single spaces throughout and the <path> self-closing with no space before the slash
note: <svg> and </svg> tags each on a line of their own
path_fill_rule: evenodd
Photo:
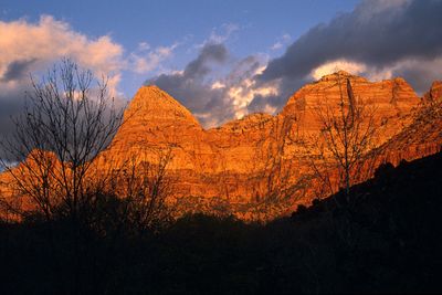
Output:
<svg viewBox="0 0 442 295">
<path fill-rule="evenodd" d="M 344 188 L 348 201 L 350 187 L 360 181 L 361 173 L 371 170 L 373 164 L 373 155 L 368 151 L 376 146 L 376 109 L 369 102 L 355 97 L 349 78 L 344 80 L 338 73 L 336 83 L 338 106 L 326 104 L 314 109 L 322 129 L 311 140 L 318 151 L 312 157 L 311 167 L 323 185 L 323 193 L 333 193 L 336 187 Z"/>
</svg>

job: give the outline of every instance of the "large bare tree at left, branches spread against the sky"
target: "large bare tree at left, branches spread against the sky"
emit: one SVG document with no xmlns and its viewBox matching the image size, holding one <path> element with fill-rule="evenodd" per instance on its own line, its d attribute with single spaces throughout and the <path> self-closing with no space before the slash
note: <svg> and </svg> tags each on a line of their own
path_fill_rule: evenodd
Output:
<svg viewBox="0 0 442 295">
<path fill-rule="evenodd" d="M 63 60 L 40 81 L 31 76 L 24 113 L 1 147 L 17 167 L 2 165 L 19 197 L 46 219 L 55 213 L 76 219 L 87 204 L 87 175 L 119 128 L 118 110 L 107 89 L 71 60 Z"/>
</svg>

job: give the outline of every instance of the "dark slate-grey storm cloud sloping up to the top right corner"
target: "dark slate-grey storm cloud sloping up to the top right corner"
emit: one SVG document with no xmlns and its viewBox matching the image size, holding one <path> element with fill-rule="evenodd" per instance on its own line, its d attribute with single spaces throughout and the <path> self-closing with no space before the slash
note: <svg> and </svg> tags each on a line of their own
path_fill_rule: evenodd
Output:
<svg viewBox="0 0 442 295">
<path fill-rule="evenodd" d="M 441 15 L 440 0 L 364 1 L 352 12 L 311 29 L 271 61 L 260 78 L 301 78 L 337 59 L 378 69 L 403 59 L 434 59 L 442 53 Z"/>
</svg>

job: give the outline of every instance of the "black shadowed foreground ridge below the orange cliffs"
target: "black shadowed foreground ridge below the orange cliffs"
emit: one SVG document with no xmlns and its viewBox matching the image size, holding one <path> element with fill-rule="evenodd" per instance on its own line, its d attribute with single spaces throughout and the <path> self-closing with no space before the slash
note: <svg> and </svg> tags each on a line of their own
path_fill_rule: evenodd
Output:
<svg viewBox="0 0 442 295">
<path fill-rule="evenodd" d="M 74 246 L 63 220 L 2 223 L 2 293 L 441 292 L 441 152 L 383 165 L 349 202 L 338 193 L 265 225 L 197 214 L 133 235 L 109 219 Z"/>
</svg>

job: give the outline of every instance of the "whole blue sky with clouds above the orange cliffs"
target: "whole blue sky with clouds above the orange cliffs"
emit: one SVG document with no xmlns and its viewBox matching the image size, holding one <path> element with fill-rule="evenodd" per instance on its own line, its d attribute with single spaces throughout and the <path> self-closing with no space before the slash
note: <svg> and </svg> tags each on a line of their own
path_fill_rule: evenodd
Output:
<svg viewBox="0 0 442 295">
<path fill-rule="evenodd" d="M 442 78 L 442 0 L 0 0 L 0 133 L 29 74 L 71 57 L 110 94 L 155 84 L 206 127 L 275 114 L 303 84 L 337 70 Z"/>
</svg>

